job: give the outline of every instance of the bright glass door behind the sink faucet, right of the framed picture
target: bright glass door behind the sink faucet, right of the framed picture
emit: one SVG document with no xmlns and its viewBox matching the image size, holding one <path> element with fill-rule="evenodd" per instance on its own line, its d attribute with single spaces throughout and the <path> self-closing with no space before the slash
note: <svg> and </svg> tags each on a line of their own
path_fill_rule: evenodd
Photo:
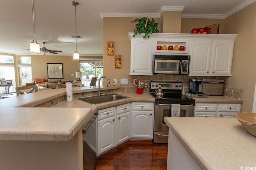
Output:
<svg viewBox="0 0 256 170">
<path fill-rule="evenodd" d="M 103 75 L 103 62 L 102 61 L 88 61 L 80 62 L 80 71 L 82 72 L 82 84 L 89 86 L 92 77 L 101 77 Z M 102 86 L 101 81 L 101 86 Z M 98 80 L 96 82 L 98 84 Z"/>
</svg>

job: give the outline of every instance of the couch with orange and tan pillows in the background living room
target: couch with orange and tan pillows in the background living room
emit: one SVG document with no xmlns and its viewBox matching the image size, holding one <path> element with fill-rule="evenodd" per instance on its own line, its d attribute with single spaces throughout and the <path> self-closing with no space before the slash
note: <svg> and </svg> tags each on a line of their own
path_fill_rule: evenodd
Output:
<svg viewBox="0 0 256 170">
<path fill-rule="evenodd" d="M 71 82 L 73 87 L 82 87 L 81 81 L 76 80 L 62 80 L 62 79 L 44 79 L 44 78 L 34 78 L 33 82 L 26 82 L 24 86 L 37 85 L 38 90 L 54 89 L 54 88 L 66 88 L 66 84 Z"/>
</svg>

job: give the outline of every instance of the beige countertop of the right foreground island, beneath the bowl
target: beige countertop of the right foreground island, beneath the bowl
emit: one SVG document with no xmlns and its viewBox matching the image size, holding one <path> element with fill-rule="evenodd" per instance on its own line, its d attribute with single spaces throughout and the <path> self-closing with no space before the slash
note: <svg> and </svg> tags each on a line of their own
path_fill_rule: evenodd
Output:
<svg viewBox="0 0 256 170">
<path fill-rule="evenodd" d="M 236 118 L 165 117 L 202 170 L 256 168 L 256 137 Z"/>
</svg>

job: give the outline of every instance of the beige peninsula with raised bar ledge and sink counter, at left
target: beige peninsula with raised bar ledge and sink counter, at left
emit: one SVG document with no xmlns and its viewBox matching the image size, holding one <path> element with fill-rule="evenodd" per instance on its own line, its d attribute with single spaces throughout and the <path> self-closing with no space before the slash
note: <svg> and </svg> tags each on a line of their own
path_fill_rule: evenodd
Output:
<svg viewBox="0 0 256 170">
<path fill-rule="evenodd" d="M 101 89 L 115 92 L 118 88 Z M 73 95 L 76 98 L 90 96 L 96 91 L 73 88 Z M 149 94 L 128 94 L 133 95 L 138 96 L 134 101 L 154 101 Z M 74 102 L 65 102 L 65 96 L 66 89 L 52 89 L 48 93 L 38 91 L 0 100 L 1 170 L 82 170 L 84 125 L 99 108 L 132 102 L 132 98 L 128 98 L 122 102 L 90 105 L 76 98 Z M 55 108 L 55 103 L 60 105 Z"/>
</svg>

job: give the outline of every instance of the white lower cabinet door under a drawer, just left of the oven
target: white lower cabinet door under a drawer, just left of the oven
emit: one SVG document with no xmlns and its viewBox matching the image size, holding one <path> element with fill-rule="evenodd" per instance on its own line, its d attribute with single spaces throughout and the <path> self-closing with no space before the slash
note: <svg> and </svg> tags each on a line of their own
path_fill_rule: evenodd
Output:
<svg viewBox="0 0 256 170">
<path fill-rule="evenodd" d="M 132 138 L 152 138 L 153 111 L 132 111 Z"/>
</svg>

